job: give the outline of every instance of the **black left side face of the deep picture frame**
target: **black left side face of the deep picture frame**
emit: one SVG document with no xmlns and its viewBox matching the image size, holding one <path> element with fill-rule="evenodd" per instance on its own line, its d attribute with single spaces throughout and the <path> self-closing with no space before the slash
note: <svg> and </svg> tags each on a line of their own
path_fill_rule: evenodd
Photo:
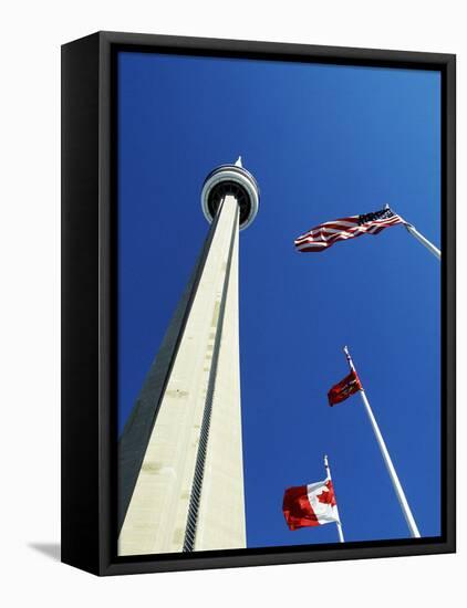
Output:
<svg viewBox="0 0 467 608">
<path fill-rule="evenodd" d="M 62 562 L 97 573 L 98 35 L 62 46 Z"/>
</svg>

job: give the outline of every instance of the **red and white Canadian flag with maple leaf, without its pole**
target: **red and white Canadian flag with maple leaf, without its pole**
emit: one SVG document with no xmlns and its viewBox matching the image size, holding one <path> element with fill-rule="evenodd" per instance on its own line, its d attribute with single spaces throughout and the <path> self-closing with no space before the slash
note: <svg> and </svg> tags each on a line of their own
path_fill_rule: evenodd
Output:
<svg viewBox="0 0 467 608">
<path fill-rule="evenodd" d="M 283 495 L 283 515 L 290 530 L 339 522 L 332 481 L 288 488 Z"/>
</svg>

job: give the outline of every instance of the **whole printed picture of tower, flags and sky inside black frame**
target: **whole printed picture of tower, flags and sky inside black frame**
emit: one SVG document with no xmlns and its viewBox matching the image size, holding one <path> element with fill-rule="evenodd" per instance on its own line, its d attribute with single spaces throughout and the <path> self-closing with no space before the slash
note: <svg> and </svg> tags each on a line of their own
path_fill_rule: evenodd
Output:
<svg viewBox="0 0 467 608">
<path fill-rule="evenodd" d="M 118 555 L 439 537 L 440 73 L 116 71 Z"/>
</svg>

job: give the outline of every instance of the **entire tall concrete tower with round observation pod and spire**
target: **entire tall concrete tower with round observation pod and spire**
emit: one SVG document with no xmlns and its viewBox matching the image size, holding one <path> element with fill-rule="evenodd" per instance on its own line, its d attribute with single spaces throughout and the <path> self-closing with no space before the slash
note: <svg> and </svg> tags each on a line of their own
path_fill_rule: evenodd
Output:
<svg viewBox="0 0 467 608">
<path fill-rule="evenodd" d="M 118 441 L 118 555 L 246 547 L 239 230 L 259 188 L 241 165 L 206 178 L 210 223 Z"/>
</svg>

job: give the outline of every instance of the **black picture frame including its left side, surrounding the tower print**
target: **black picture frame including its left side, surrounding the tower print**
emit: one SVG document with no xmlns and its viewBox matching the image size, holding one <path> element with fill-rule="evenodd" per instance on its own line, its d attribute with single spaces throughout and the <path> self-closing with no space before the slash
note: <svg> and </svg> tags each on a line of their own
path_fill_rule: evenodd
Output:
<svg viewBox="0 0 467 608">
<path fill-rule="evenodd" d="M 115 56 L 118 50 L 436 70 L 442 75 L 440 537 L 117 557 L 115 531 Z M 62 46 L 62 562 L 96 575 L 453 553 L 456 57 L 97 32 Z"/>
</svg>

